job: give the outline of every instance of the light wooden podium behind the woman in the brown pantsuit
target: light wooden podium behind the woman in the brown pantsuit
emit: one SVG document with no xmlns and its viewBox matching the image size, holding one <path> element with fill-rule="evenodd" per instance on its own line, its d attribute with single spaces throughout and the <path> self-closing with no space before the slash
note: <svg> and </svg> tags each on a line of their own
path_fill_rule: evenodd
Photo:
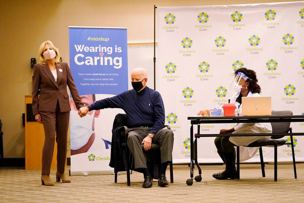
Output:
<svg viewBox="0 0 304 203">
<path fill-rule="evenodd" d="M 32 95 L 25 95 L 25 169 L 41 169 L 44 129 L 43 125 L 37 121 L 27 121 L 27 104 L 32 104 Z M 51 169 L 57 168 L 56 159 L 57 143 L 55 141 Z"/>
</svg>

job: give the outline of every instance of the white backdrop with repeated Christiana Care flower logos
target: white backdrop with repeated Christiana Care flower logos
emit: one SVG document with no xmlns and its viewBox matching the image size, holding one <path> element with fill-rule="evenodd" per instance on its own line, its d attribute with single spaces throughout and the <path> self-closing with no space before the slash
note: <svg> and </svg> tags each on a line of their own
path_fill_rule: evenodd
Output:
<svg viewBox="0 0 304 203">
<path fill-rule="evenodd" d="M 218 95 L 216 90 L 226 91 L 239 67 L 257 72 L 261 95 L 272 96 L 273 110 L 304 114 L 303 9 L 303 1 L 157 8 L 156 90 L 174 131 L 174 163 L 190 162 L 187 117 L 228 102 L 233 92 Z M 233 126 L 201 125 L 201 132 Z M 304 123 L 291 127 L 304 131 Z M 296 161 L 303 161 L 304 137 L 294 139 Z M 213 141 L 198 140 L 200 163 L 221 162 Z M 263 155 L 266 162 L 273 161 L 273 148 L 263 147 Z M 257 154 L 248 162 L 259 160 Z M 278 148 L 278 160 L 292 161 L 290 146 Z"/>
</svg>

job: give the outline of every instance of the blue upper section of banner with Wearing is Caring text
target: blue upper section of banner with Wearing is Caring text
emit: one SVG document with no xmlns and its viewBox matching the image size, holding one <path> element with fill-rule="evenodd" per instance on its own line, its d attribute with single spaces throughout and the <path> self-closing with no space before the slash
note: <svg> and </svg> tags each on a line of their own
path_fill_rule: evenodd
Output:
<svg viewBox="0 0 304 203">
<path fill-rule="evenodd" d="M 79 95 L 128 89 L 127 29 L 69 27 L 69 55 Z"/>
</svg>

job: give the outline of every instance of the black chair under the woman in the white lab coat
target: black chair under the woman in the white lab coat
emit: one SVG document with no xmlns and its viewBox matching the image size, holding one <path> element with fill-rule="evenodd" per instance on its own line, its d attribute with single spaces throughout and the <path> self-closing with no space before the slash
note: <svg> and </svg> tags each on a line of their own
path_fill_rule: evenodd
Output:
<svg viewBox="0 0 304 203">
<path fill-rule="evenodd" d="M 292 111 L 272 111 L 272 115 L 276 116 L 292 116 Z M 271 123 L 272 132 L 273 133 L 292 133 L 292 128 L 290 127 L 290 122 L 274 122 Z M 261 159 L 261 168 L 262 168 L 262 177 L 265 177 L 265 164 L 263 160 L 263 151 L 262 147 L 274 147 L 275 148 L 275 163 L 274 163 L 274 170 L 275 170 L 275 181 L 277 181 L 277 165 L 278 165 L 278 155 L 277 155 L 277 147 L 283 145 L 291 145 L 292 155 L 293 155 L 293 171 L 294 171 L 294 178 L 297 178 L 297 170 L 296 170 L 296 162 L 294 158 L 294 148 L 293 148 L 293 136 L 290 135 L 290 142 L 286 142 L 286 140 L 279 140 L 284 136 L 271 136 L 270 140 L 259 140 L 249 144 L 247 147 L 260 147 L 260 159 Z M 239 179 L 239 146 L 237 146 L 236 150 L 237 156 L 237 178 Z"/>
</svg>

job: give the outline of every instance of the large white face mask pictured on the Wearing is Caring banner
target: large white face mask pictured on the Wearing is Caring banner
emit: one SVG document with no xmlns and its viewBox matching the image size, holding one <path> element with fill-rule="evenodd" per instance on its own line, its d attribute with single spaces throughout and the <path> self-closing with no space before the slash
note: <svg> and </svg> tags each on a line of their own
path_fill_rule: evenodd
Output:
<svg viewBox="0 0 304 203">
<path fill-rule="evenodd" d="M 83 145 L 87 144 L 92 131 L 92 122 L 94 119 L 94 111 L 92 115 L 87 114 L 80 118 L 77 111 L 71 112 L 71 150 L 78 150 Z"/>
</svg>

